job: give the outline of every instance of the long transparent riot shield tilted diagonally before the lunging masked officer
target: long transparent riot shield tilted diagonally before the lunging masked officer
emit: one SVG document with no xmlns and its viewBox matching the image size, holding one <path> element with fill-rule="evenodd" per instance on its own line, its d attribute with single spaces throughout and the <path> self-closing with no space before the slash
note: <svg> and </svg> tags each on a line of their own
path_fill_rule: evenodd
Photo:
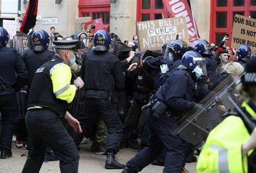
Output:
<svg viewBox="0 0 256 173">
<path fill-rule="evenodd" d="M 200 146 L 209 132 L 233 109 L 228 97 L 238 105 L 242 103 L 235 89 L 240 84 L 241 76 L 236 80 L 229 76 L 222 81 L 200 102 L 203 109 L 193 108 L 172 127 L 172 135 L 179 135 L 194 146 Z"/>
</svg>

